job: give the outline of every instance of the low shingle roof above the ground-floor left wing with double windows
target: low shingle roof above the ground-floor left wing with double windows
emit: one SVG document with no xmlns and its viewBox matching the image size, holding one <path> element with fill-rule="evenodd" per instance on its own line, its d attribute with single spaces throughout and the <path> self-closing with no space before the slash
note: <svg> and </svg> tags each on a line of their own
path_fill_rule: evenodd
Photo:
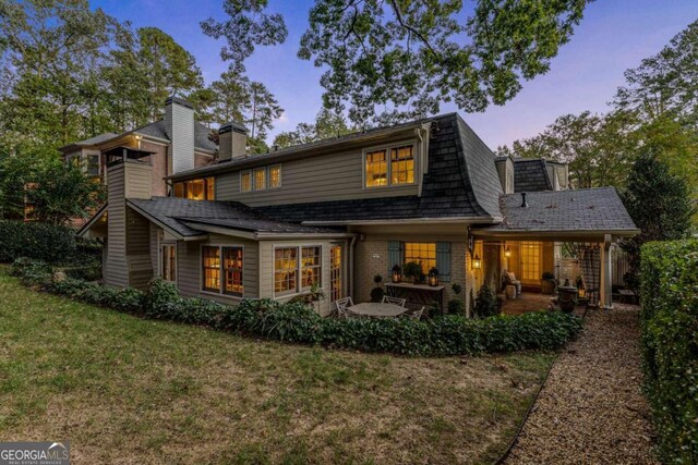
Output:
<svg viewBox="0 0 698 465">
<path fill-rule="evenodd" d="M 266 233 L 323 233 L 337 232 L 325 228 L 275 221 L 239 201 L 189 200 L 177 197 L 129 199 L 136 211 L 165 224 L 182 236 L 203 234 L 192 223 L 228 228 L 232 230 Z"/>
</svg>

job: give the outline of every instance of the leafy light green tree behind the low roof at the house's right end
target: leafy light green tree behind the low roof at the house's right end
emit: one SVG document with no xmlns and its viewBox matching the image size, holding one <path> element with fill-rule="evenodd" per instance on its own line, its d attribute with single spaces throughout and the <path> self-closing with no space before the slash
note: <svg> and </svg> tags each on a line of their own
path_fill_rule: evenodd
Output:
<svg viewBox="0 0 698 465">
<path fill-rule="evenodd" d="M 577 188 L 621 186 L 630 170 L 639 144 L 638 124 L 633 113 L 611 112 L 566 114 L 541 134 L 516 140 L 500 155 L 544 158 L 569 163 Z"/>
</svg>

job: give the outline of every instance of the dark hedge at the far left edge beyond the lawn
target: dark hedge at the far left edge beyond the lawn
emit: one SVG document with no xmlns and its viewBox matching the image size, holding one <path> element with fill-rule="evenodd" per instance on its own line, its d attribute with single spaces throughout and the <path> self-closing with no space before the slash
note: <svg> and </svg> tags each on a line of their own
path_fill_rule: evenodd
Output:
<svg viewBox="0 0 698 465">
<path fill-rule="evenodd" d="M 28 257 L 49 264 L 72 264 L 100 259 L 101 247 L 75 237 L 65 227 L 0 220 L 0 262 Z"/>
</svg>

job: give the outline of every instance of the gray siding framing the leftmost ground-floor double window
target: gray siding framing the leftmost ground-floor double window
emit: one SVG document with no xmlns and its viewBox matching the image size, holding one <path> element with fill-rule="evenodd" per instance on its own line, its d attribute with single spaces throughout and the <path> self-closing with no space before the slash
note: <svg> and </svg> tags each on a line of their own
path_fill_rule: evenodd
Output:
<svg viewBox="0 0 698 465">
<path fill-rule="evenodd" d="M 224 304 L 236 304 L 240 298 L 202 292 L 201 247 L 203 245 L 238 245 L 244 247 L 243 283 L 244 297 L 258 297 L 258 253 L 257 243 L 250 240 L 212 234 L 207 241 L 177 243 L 177 284 L 180 293 L 186 297 L 203 297 Z"/>
</svg>

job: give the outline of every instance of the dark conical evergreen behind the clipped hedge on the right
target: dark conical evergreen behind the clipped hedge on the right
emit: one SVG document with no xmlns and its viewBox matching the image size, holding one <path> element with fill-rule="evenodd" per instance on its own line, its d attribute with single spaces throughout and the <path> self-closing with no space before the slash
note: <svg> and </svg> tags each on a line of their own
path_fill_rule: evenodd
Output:
<svg viewBox="0 0 698 465">
<path fill-rule="evenodd" d="M 625 208 L 640 229 L 638 235 L 622 243 L 630 254 L 631 274 L 635 277 L 629 279 L 630 282 L 637 282 L 642 244 L 684 238 L 690 231 L 695 212 L 686 181 L 672 174 L 657 151 L 657 148 L 647 147 L 637 157 L 622 195 Z"/>
</svg>

